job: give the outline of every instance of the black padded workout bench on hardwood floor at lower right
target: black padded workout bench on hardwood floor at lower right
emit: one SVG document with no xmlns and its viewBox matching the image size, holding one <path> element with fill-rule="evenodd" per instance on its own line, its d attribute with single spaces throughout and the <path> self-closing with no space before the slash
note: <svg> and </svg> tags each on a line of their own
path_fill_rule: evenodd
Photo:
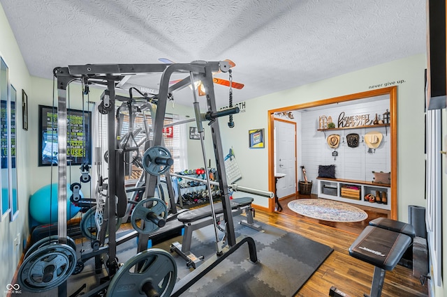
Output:
<svg viewBox="0 0 447 297">
<path fill-rule="evenodd" d="M 416 236 L 411 224 L 378 218 L 369 222 L 349 248 L 349 254 L 374 265 L 369 297 L 379 297 L 382 293 L 386 271 L 392 271 L 406 250 L 411 247 Z M 368 296 L 364 294 L 365 296 Z M 331 287 L 329 296 L 348 296 Z"/>
</svg>

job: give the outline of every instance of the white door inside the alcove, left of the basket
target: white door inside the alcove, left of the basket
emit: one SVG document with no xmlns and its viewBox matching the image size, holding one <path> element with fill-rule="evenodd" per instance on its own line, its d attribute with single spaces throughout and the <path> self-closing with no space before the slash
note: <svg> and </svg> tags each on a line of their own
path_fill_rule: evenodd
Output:
<svg viewBox="0 0 447 297">
<path fill-rule="evenodd" d="M 296 123 L 274 120 L 275 173 L 286 174 L 277 180 L 278 198 L 296 193 Z"/>
</svg>

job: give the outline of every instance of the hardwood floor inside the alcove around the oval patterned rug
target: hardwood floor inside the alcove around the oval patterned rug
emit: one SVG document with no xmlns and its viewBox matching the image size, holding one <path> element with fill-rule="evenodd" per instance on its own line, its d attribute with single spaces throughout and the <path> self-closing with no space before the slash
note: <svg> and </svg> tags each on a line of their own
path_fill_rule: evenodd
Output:
<svg viewBox="0 0 447 297">
<path fill-rule="evenodd" d="M 314 222 L 316 224 L 323 224 L 328 227 L 333 227 L 335 229 L 351 232 L 353 234 L 360 234 L 360 232 L 365 229 L 365 227 L 368 225 L 368 222 L 370 220 L 374 220 L 375 218 L 388 218 L 390 216 L 390 211 L 385 211 L 379 208 L 373 208 L 368 206 L 360 206 L 358 204 L 352 204 L 353 206 L 356 206 L 363 211 L 365 211 L 368 215 L 368 218 L 362 222 L 329 222 L 325 220 L 316 220 L 314 218 L 309 218 L 304 215 L 300 215 L 298 213 L 295 213 L 291 211 L 290 208 L 288 208 L 287 204 L 288 202 L 294 200 L 294 199 L 316 199 L 316 195 L 294 195 L 292 197 L 279 199 L 279 204 L 281 204 L 283 210 L 281 211 L 284 215 L 290 215 L 293 218 L 301 218 L 303 220 L 308 220 L 309 222 Z"/>
</svg>

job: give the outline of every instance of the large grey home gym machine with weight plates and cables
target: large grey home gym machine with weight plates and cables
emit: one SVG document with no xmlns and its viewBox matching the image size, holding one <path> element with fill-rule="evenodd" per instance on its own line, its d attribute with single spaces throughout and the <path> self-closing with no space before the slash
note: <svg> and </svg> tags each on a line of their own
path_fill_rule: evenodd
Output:
<svg viewBox="0 0 447 297">
<path fill-rule="evenodd" d="M 78 255 L 73 245 L 67 238 L 66 226 L 66 203 L 67 203 L 67 86 L 71 82 L 78 80 L 84 84 L 88 92 L 89 84 L 102 84 L 107 87 L 105 95 L 98 106 L 102 114 L 107 114 L 108 123 L 115 123 L 115 103 L 117 95 L 115 87 L 127 75 L 141 75 L 151 73 L 161 73 L 160 91 L 152 98 L 156 103 L 153 138 L 142 156 L 142 165 L 147 172 L 145 180 L 145 197 L 133 208 L 131 221 L 139 221 L 139 224 L 132 224 L 138 231 L 138 253 L 131 257 L 124 265 L 118 263 L 116 225 L 117 218 L 122 218 L 126 214 L 128 200 L 122 183 L 122 171 L 124 171 L 124 151 L 119 147 L 115 125 L 108 127 L 108 187 L 105 198 L 103 213 L 104 224 L 101 226 L 101 246 L 95 246 L 94 257 L 100 254 L 107 254 L 108 265 L 106 265 L 108 279 L 103 280 L 94 289 L 87 292 L 85 296 L 97 296 L 107 290 L 107 296 L 179 296 L 192 284 L 200 280 L 206 273 L 216 267 L 221 261 L 235 252 L 244 243 L 249 248 L 249 259 L 256 263 L 256 246 L 253 238 L 241 236 L 235 237 L 232 209 L 228 195 L 229 185 L 226 181 L 224 167 L 223 150 L 219 123 L 220 116 L 228 116 L 239 112 L 237 107 L 217 111 L 214 98 L 214 86 L 212 73 L 221 71 L 227 72 L 230 65 L 227 61 L 196 61 L 192 63 L 172 63 L 172 64 L 89 64 L 83 66 L 68 66 L 54 69 L 57 77 L 57 130 L 58 130 L 58 235 L 57 240 L 43 245 L 31 252 L 24 259 L 19 270 L 18 282 L 20 287 L 26 291 L 48 291 L 57 288 L 59 296 L 67 296 L 67 279 L 73 274 L 78 263 Z M 170 76 L 173 73 L 185 73 L 188 75 L 181 81 L 169 86 Z M 173 91 L 183 89 L 185 86 L 193 85 L 200 80 L 207 90 L 206 103 L 207 112 L 201 113 L 197 100 L 196 90 L 193 90 L 193 108 L 196 114 L 196 124 L 200 133 L 203 150 L 203 160 L 205 170 L 207 169 L 207 157 L 203 144 L 203 121 L 208 121 L 211 128 L 214 157 L 217 165 L 219 178 L 219 190 L 221 191 L 221 206 L 223 221 L 226 226 L 226 245 L 219 241 L 217 236 L 217 226 L 215 221 L 215 211 L 212 201 L 210 208 L 214 220 L 214 231 L 216 233 L 216 249 L 214 257 L 208 259 L 198 269 L 176 282 L 177 267 L 173 256 L 164 250 L 147 249 L 149 234 L 162 228 L 166 224 L 166 204 L 161 199 L 155 198 L 155 189 L 159 176 L 166 174 L 169 178 L 170 165 L 173 164 L 170 152 L 163 147 L 163 119 L 166 113 L 166 103 L 172 98 Z M 86 169 L 86 168 L 85 168 Z M 85 174 L 85 171 L 83 174 Z M 210 181 L 207 179 L 208 189 Z M 237 185 L 231 185 L 233 190 L 250 191 Z M 170 191 L 170 195 L 172 192 Z M 269 197 L 273 197 L 268 192 Z M 212 197 L 210 193 L 210 197 Z M 172 204 L 171 204 L 172 205 Z M 110 223 L 112 222 L 112 223 Z M 108 228 L 108 242 L 103 241 L 105 228 Z M 104 229 L 104 230 L 103 230 Z"/>
</svg>

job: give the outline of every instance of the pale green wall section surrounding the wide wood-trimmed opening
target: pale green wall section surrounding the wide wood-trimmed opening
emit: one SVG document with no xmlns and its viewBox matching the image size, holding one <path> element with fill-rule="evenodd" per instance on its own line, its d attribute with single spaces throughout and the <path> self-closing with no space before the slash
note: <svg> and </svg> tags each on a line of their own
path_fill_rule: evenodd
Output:
<svg viewBox="0 0 447 297">
<path fill-rule="evenodd" d="M 223 127 L 223 149 L 233 146 L 242 172 L 240 185 L 268 190 L 268 110 L 360 93 L 372 86 L 397 85 L 397 218 L 408 221 L 408 206 L 424 199 L 424 69 L 425 54 L 383 63 L 313 84 L 268 94 L 246 102 L 235 128 Z M 237 94 L 235 94 L 237 100 Z M 223 126 L 223 120 L 221 120 Z M 248 130 L 265 128 L 264 149 L 250 149 Z M 265 198 L 255 204 L 268 206 Z"/>
</svg>

